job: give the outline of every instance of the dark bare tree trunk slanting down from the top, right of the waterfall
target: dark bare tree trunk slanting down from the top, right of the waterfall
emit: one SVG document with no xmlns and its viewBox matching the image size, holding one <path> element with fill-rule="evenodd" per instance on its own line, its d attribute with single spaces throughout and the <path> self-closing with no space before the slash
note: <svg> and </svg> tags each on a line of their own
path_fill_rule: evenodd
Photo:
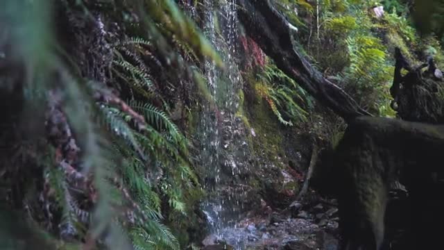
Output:
<svg viewBox="0 0 444 250">
<path fill-rule="evenodd" d="M 293 49 L 289 23 L 269 0 L 237 0 L 237 4 L 237 15 L 246 27 L 246 33 L 275 61 L 282 72 L 346 121 L 370 115 Z"/>
</svg>

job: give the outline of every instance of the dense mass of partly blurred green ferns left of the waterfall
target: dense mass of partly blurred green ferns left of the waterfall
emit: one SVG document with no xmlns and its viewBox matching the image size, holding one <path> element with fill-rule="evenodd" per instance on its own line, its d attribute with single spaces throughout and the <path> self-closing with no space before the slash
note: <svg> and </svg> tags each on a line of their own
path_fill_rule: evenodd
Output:
<svg viewBox="0 0 444 250">
<path fill-rule="evenodd" d="M 48 119 L 65 114 L 68 127 L 63 129 L 73 131 L 76 139 L 61 145 L 79 147 L 81 153 L 68 153 L 63 157 L 74 159 L 59 162 L 54 160 L 57 152 L 65 149 L 49 146 L 44 131 L 28 129 L 34 135 L 26 142 L 13 138 L 14 147 L 46 146 L 22 153 L 21 160 L 35 169 L 15 159 L 0 169 L 6 193 L 1 202 L 12 208 L 12 201 L 19 201 L 17 213 L 27 215 L 32 228 L 51 235 L 47 242 L 60 240 L 58 249 L 182 249 L 162 221 L 178 225 L 175 230 L 189 226 L 203 191 L 189 158 L 189 142 L 171 120 L 171 109 L 189 101 L 182 94 L 194 88 L 198 74 L 191 65 L 209 59 L 223 67 L 194 21 L 172 0 L 6 0 L 3 6 L 0 87 L 17 88 L 26 105 L 6 115 L 2 125 L 10 131 L 2 136 L 13 133 L 11 124 L 17 121 L 29 126 L 46 122 L 46 129 L 55 129 Z M 12 72 L 23 67 L 25 77 L 3 69 L 8 67 Z M 2 101 L 2 108 L 3 103 L 21 105 L 12 97 Z M 54 104 L 45 118 L 48 103 L 60 105 Z M 39 113 L 32 119 L 15 118 L 35 109 Z M 64 136 L 72 135 L 59 137 Z M 49 141 L 56 147 L 60 138 Z M 67 165 L 74 168 L 77 181 Z M 80 189 L 79 180 L 85 182 Z M 12 192 L 10 183 L 16 181 L 28 184 Z M 26 223 L 17 224 L 17 230 L 24 231 Z M 10 226 L 3 223 L 1 232 Z M 28 238 L 1 237 L 12 245 L 32 244 L 37 229 L 26 230 L 31 231 Z M 42 244 L 42 249 L 48 248 Z"/>
</svg>

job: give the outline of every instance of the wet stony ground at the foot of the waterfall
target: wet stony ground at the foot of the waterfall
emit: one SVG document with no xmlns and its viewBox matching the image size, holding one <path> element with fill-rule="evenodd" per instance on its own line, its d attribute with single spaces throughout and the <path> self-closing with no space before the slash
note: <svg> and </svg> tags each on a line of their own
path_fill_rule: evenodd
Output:
<svg viewBox="0 0 444 250">
<path fill-rule="evenodd" d="M 283 210 L 266 206 L 262 213 L 208 235 L 203 250 L 335 250 L 339 249 L 338 220 L 335 200 L 295 201 Z"/>
</svg>

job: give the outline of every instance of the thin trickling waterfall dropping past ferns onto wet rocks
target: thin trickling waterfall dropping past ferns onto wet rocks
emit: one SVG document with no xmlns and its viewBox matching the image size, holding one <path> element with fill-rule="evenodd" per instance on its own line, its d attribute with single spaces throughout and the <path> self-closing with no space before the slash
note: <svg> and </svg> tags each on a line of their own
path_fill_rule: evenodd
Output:
<svg viewBox="0 0 444 250">
<path fill-rule="evenodd" d="M 225 69 L 214 62 L 205 63 L 207 88 L 216 107 L 203 107 L 198 125 L 200 142 L 199 167 L 205 176 L 205 189 L 210 193 L 202 204 L 210 233 L 223 238 L 225 228 L 235 228 L 241 217 L 244 194 L 239 176 L 248 166 L 248 147 L 242 138 L 242 124 L 235 113 L 239 108 L 241 74 L 237 63 L 237 15 L 234 0 L 207 0 L 203 13 L 203 32 L 223 58 Z M 241 242 L 228 242 L 242 249 Z"/>
</svg>

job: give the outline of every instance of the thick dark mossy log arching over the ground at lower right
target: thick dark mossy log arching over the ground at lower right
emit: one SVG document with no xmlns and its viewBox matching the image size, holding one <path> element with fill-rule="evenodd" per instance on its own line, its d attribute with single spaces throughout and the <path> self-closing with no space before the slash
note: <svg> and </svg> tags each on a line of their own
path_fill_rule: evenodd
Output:
<svg viewBox="0 0 444 250">
<path fill-rule="evenodd" d="M 442 224 L 444 126 L 382 117 L 358 117 L 349 123 L 336 148 L 343 249 L 379 249 L 384 239 L 388 187 L 398 178 L 409 190 L 411 249 L 434 249 Z M 427 247 L 426 247 L 427 246 Z"/>
</svg>

